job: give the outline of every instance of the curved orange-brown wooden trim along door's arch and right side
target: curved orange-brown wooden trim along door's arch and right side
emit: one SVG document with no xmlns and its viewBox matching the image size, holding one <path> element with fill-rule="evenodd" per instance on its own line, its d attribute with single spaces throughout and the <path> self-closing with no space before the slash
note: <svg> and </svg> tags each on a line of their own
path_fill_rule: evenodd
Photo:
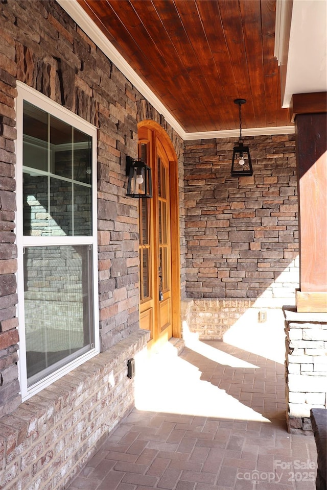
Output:
<svg viewBox="0 0 327 490">
<path fill-rule="evenodd" d="M 145 119 L 138 123 L 137 128 L 148 128 L 155 131 L 167 153 L 169 160 L 169 184 L 170 184 L 170 227 L 171 227 L 171 266 L 172 266 L 172 335 L 181 338 L 181 313 L 180 313 L 180 235 L 179 235 L 179 180 L 178 159 L 172 141 L 167 132 L 151 119 Z"/>
</svg>

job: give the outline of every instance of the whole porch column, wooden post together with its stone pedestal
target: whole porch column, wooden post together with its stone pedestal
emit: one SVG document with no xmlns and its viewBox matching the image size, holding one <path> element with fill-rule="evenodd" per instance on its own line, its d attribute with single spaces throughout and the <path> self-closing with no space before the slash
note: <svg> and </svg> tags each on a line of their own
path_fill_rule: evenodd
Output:
<svg viewBox="0 0 327 490">
<path fill-rule="evenodd" d="M 287 425 L 311 430 L 310 408 L 326 408 L 327 152 L 326 93 L 295 94 L 300 284 L 285 307 Z"/>
</svg>

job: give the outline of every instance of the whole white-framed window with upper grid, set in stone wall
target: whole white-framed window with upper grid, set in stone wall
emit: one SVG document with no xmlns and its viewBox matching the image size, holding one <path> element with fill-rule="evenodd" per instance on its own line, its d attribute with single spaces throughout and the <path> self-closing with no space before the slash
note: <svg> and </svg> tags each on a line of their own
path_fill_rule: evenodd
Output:
<svg viewBox="0 0 327 490">
<path fill-rule="evenodd" d="M 17 82 L 22 400 L 99 353 L 97 129 Z"/>
</svg>

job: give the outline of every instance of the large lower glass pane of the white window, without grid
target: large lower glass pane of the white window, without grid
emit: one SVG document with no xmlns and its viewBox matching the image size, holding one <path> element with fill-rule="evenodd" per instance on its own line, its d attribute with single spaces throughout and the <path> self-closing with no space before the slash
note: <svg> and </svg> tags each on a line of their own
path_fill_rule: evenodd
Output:
<svg viewBox="0 0 327 490">
<path fill-rule="evenodd" d="M 94 342 L 90 246 L 26 247 L 25 332 L 29 385 Z"/>
</svg>

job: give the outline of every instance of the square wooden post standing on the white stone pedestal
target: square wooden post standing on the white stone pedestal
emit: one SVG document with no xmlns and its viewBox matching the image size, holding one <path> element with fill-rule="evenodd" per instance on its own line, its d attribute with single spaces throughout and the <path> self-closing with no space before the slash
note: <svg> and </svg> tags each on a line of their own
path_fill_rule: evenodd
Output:
<svg viewBox="0 0 327 490">
<path fill-rule="evenodd" d="M 298 312 L 327 312 L 326 92 L 294 94 L 299 206 Z"/>
</svg>

